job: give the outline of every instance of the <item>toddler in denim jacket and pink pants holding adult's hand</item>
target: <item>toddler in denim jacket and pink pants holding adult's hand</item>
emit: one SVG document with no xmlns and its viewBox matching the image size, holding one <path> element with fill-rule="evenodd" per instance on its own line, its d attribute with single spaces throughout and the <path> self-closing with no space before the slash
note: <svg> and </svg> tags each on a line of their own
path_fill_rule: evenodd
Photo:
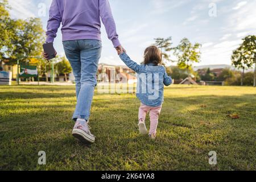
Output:
<svg viewBox="0 0 256 182">
<path fill-rule="evenodd" d="M 139 107 L 139 132 L 148 134 L 155 139 L 158 118 L 163 104 L 164 85 L 172 84 L 172 78 L 166 73 L 162 65 L 162 53 L 156 46 L 150 46 L 144 51 L 144 63 L 138 65 L 124 52 L 119 55 L 127 67 L 133 69 L 138 75 L 137 97 L 141 101 Z M 150 131 L 148 133 L 145 119 L 150 115 Z"/>
</svg>

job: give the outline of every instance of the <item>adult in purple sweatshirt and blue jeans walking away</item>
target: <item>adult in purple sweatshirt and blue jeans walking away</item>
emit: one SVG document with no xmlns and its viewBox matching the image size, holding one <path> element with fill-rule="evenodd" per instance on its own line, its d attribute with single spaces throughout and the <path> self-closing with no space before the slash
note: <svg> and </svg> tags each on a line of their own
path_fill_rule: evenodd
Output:
<svg viewBox="0 0 256 182">
<path fill-rule="evenodd" d="M 46 32 L 46 42 L 51 43 L 62 24 L 63 47 L 76 81 L 77 104 L 72 117 L 76 123 L 72 134 L 89 143 L 95 141 L 88 121 L 101 57 L 100 19 L 114 48 L 123 53 L 108 0 L 53 0 Z M 43 53 L 43 56 L 47 59 L 48 55 Z"/>
</svg>

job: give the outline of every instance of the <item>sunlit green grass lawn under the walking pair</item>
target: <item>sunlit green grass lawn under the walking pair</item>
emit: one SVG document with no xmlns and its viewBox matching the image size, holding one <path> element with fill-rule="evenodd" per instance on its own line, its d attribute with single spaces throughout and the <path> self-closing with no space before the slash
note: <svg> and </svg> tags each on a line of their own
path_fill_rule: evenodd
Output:
<svg viewBox="0 0 256 182">
<path fill-rule="evenodd" d="M 71 134 L 73 86 L 0 86 L 0 169 L 256 169 L 255 88 L 174 85 L 164 96 L 151 140 L 138 133 L 134 94 L 96 93 L 90 126 L 97 138 L 86 146 Z M 217 152 L 216 166 L 209 151 Z"/>
</svg>

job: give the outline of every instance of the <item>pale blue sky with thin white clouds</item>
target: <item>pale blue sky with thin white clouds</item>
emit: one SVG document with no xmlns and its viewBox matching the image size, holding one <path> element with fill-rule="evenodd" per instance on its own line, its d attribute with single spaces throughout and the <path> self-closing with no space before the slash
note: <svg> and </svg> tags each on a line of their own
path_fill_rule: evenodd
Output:
<svg viewBox="0 0 256 182">
<path fill-rule="evenodd" d="M 75 1 L 73 1 L 75 3 Z M 248 0 L 109 0 L 122 46 L 141 63 L 154 38 L 172 37 L 177 46 L 184 37 L 202 44 L 201 62 L 195 65 L 231 64 L 233 49 L 246 35 L 256 35 L 256 1 Z M 46 30 L 51 0 L 9 0 L 13 18 L 42 19 Z M 123 65 L 102 24 L 100 63 Z M 54 46 L 64 55 L 59 30 Z"/>
</svg>

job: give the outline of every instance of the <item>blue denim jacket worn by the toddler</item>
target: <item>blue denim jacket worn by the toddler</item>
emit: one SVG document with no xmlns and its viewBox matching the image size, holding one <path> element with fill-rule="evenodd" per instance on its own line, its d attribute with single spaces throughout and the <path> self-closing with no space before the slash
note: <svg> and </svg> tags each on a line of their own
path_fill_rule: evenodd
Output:
<svg viewBox="0 0 256 182">
<path fill-rule="evenodd" d="M 163 104 L 164 85 L 172 84 L 172 78 L 167 75 L 166 69 L 154 64 L 137 64 L 126 53 L 120 55 L 122 61 L 137 73 L 137 98 L 142 104 L 157 107 Z"/>
</svg>

